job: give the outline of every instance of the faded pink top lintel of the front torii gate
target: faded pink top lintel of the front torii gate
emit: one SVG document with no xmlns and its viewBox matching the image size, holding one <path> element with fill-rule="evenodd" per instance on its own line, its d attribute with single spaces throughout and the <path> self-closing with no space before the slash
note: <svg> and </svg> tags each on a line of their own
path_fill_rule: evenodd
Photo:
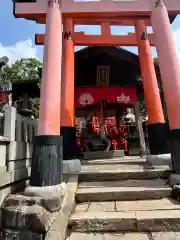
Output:
<svg viewBox="0 0 180 240">
<path fill-rule="evenodd" d="M 16 17 L 38 18 L 45 16 L 48 1 L 58 0 L 36 0 L 35 2 L 14 2 L 14 14 Z M 67 17 L 113 17 L 116 16 L 150 16 L 152 9 L 160 0 L 94 0 L 78 1 L 60 0 L 61 11 Z M 179 0 L 164 0 L 169 14 L 180 13 Z"/>
</svg>

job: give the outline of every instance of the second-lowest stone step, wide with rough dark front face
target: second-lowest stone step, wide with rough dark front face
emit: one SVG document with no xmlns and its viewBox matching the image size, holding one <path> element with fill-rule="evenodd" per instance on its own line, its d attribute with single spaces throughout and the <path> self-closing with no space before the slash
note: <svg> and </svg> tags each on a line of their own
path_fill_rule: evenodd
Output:
<svg viewBox="0 0 180 240">
<path fill-rule="evenodd" d="M 179 210 L 79 212 L 71 215 L 69 226 L 76 232 L 177 232 L 179 216 Z"/>
</svg>

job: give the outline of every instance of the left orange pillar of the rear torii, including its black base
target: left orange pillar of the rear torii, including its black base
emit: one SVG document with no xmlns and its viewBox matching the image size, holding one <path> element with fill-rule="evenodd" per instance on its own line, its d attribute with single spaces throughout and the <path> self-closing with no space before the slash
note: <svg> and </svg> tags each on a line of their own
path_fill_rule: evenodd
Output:
<svg viewBox="0 0 180 240">
<path fill-rule="evenodd" d="M 63 136 L 63 159 L 76 157 L 76 128 L 74 119 L 74 32 L 73 20 L 63 22 L 61 134 Z"/>
</svg>

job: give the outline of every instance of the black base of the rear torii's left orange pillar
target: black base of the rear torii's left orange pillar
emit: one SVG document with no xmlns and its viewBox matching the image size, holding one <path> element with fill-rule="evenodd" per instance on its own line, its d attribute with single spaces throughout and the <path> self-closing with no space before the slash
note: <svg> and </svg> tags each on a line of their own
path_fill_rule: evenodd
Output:
<svg viewBox="0 0 180 240">
<path fill-rule="evenodd" d="M 69 160 L 78 157 L 76 146 L 76 128 L 61 127 L 61 135 L 63 136 L 63 159 Z"/>
</svg>

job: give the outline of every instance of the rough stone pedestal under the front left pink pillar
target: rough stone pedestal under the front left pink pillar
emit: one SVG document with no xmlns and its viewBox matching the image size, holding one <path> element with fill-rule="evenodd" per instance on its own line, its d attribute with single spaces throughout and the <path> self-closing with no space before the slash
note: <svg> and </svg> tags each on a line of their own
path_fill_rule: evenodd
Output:
<svg viewBox="0 0 180 240">
<path fill-rule="evenodd" d="M 22 194 L 8 196 L 2 206 L 3 239 L 23 240 L 25 236 L 28 240 L 44 239 L 65 193 L 66 184 L 62 183 L 53 187 L 27 187 Z"/>
</svg>

